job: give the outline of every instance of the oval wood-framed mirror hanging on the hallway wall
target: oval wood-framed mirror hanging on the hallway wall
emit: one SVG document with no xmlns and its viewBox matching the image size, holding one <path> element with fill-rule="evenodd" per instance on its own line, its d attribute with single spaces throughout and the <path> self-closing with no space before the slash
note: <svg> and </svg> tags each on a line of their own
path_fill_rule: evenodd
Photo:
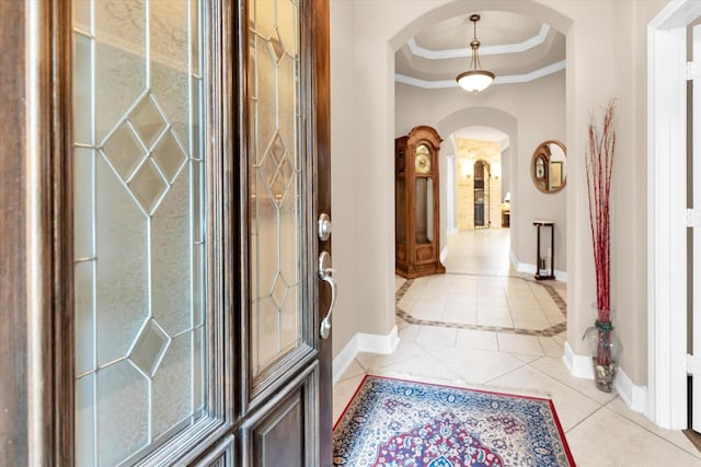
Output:
<svg viewBox="0 0 701 467">
<path fill-rule="evenodd" d="M 544 141 L 536 148 L 530 160 L 530 176 L 542 192 L 558 192 L 567 182 L 567 151 L 560 141 Z"/>
</svg>

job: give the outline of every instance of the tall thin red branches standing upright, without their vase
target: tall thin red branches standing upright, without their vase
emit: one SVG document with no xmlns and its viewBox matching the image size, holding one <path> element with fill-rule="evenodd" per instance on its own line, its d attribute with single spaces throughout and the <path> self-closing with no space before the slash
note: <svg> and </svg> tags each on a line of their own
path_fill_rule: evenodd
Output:
<svg viewBox="0 0 701 467">
<path fill-rule="evenodd" d="M 596 305 L 598 320 L 610 322 L 611 312 L 611 231 L 609 198 L 611 194 L 611 168 L 616 152 L 613 114 L 616 100 L 610 100 L 604 113 L 604 127 L 599 131 L 594 117 L 589 120 L 589 145 L 586 152 L 587 191 L 589 197 L 589 222 L 594 244 L 596 269 Z"/>
</svg>

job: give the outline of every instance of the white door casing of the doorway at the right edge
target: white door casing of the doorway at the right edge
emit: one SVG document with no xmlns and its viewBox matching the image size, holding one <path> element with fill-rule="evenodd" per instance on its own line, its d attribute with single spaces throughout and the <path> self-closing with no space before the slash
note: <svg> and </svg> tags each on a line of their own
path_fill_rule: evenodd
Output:
<svg viewBox="0 0 701 467">
<path fill-rule="evenodd" d="M 687 428 L 688 415 L 687 266 L 692 258 L 687 250 L 688 77 L 683 65 L 688 60 L 687 27 L 698 17 L 701 17 L 699 2 L 680 1 L 669 3 L 648 25 L 651 331 L 646 411 L 653 422 L 666 429 Z"/>
</svg>

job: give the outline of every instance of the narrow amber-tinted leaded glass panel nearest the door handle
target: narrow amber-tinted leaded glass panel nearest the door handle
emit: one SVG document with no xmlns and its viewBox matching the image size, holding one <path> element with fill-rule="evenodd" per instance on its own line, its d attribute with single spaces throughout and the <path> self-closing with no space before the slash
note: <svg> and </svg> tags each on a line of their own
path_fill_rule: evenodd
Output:
<svg viewBox="0 0 701 467">
<path fill-rule="evenodd" d="M 250 0 L 251 371 L 304 343 L 304 212 L 299 4 Z M 308 313 L 308 316 L 304 316 Z"/>
</svg>

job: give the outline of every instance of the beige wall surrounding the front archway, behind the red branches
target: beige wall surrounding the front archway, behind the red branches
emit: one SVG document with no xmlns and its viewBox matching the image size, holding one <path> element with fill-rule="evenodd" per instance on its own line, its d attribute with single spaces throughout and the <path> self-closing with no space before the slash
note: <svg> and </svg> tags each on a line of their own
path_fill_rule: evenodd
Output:
<svg viewBox="0 0 701 467">
<path fill-rule="evenodd" d="M 398 101 L 402 92 L 402 85 L 395 86 L 393 81 L 394 50 L 421 28 L 422 22 L 499 9 L 540 19 L 567 36 L 564 142 L 568 176 L 562 196 L 566 198 L 568 233 L 567 342 L 578 354 L 587 352 L 582 335 L 593 323 L 589 305 L 595 296 L 582 151 L 590 112 L 611 96 L 619 100 L 612 300 L 624 346 L 621 367 L 633 384 L 646 384 L 646 207 L 641 201 L 646 192 L 645 25 L 664 4 L 666 1 L 653 0 L 331 1 L 333 256 L 341 283 L 334 313 L 336 354 L 356 332 L 387 335 L 394 326 L 392 153 L 394 137 L 407 130 L 394 125 L 395 87 Z M 558 78 L 543 80 L 548 79 Z M 455 97 L 449 91 L 434 93 L 436 98 L 448 101 Z M 491 96 L 485 93 L 484 98 L 497 100 L 496 92 Z M 486 117 L 499 114 L 489 103 L 480 105 L 487 106 Z M 545 136 L 521 135 L 521 125 L 529 118 L 547 118 L 533 112 L 537 107 L 529 116 L 509 121 L 519 137 L 514 161 L 522 162 L 521 154 L 553 138 L 550 131 Z M 444 122 L 450 120 L 444 116 Z M 524 171 L 518 165 L 521 162 L 515 162 L 514 174 Z M 513 190 L 528 189 L 522 185 L 522 180 L 513 179 Z M 515 246 L 526 248 L 529 242 L 525 240 L 520 245 L 517 238 Z"/>
</svg>

